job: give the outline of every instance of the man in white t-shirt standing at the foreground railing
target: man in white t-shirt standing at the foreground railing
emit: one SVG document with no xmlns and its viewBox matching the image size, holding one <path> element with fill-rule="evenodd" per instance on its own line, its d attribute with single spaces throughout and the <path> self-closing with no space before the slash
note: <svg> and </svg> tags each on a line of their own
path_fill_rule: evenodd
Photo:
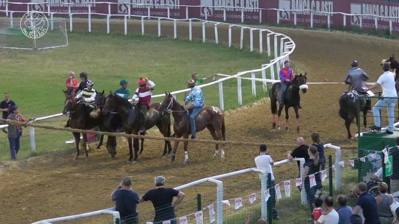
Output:
<svg viewBox="0 0 399 224">
<path fill-rule="evenodd" d="M 271 181 L 271 186 L 270 186 L 270 190 L 269 190 L 269 193 L 270 193 L 269 200 L 271 200 L 271 207 L 273 208 L 272 209 L 273 210 L 272 211 L 273 219 L 279 219 L 279 216 L 278 216 L 277 210 L 276 210 L 276 190 L 274 188 L 276 183 L 275 183 L 273 170 L 272 170 L 274 161 L 273 161 L 272 157 L 269 155 L 269 153 L 267 152 L 267 146 L 265 144 L 259 145 L 259 155 L 257 157 L 255 157 L 255 164 L 256 164 L 256 168 L 264 169 L 264 170 L 266 170 L 266 173 L 271 173 L 272 181 Z"/>
</svg>

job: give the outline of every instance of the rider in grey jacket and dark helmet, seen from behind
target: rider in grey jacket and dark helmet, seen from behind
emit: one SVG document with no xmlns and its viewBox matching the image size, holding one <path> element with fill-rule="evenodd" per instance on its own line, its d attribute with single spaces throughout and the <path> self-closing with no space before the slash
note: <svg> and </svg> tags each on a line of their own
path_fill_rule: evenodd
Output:
<svg viewBox="0 0 399 224">
<path fill-rule="evenodd" d="M 350 85 L 352 84 L 352 90 L 356 90 L 359 95 L 365 95 L 367 94 L 364 91 L 364 88 L 366 87 L 364 84 L 364 81 L 369 80 L 369 76 L 365 73 L 363 69 L 360 69 L 358 61 L 354 60 L 351 63 L 352 69 L 348 71 L 346 74 L 346 79 L 345 79 L 345 84 Z M 371 99 L 367 98 L 366 99 L 366 105 L 367 110 L 371 110 Z"/>
</svg>

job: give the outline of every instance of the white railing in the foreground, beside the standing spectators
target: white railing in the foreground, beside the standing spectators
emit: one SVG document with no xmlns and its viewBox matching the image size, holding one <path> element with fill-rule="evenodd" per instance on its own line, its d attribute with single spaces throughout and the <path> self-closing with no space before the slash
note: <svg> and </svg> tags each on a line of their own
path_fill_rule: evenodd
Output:
<svg viewBox="0 0 399 224">
<path fill-rule="evenodd" d="M 338 164 L 339 161 L 341 161 L 341 149 L 338 146 L 332 145 L 331 143 L 325 144 L 324 145 L 325 148 L 331 148 L 331 149 L 335 149 L 335 164 Z M 304 163 L 305 163 L 305 159 L 303 158 L 298 158 L 298 159 L 284 159 L 282 161 L 278 161 L 276 162 L 273 167 L 276 166 L 280 166 L 280 165 L 284 165 L 286 163 L 292 162 L 292 161 L 299 161 L 300 162 L 300 178 L 303 179 L 305 177 L 305 171 L 304 171 Z M 335 177 L 336 177 L 336 183 L 335 183 L 335 189 L 339 190 L 340 189 L 340 166 L 339 165 L 335 165 Z M 222 201 L 223 199 L 223 182 L 220 181 L 220 179 L 226 178 L 226 177 L 233 177 L 236 175 L 241 175 L 241 174 L 245 174 L 245 173 L 251 173 L 251 172 L 257 172 L 260 173 L 261 175 L 259 175 L 259 178 L 261 180 L 261 192 L 265 192 L 267 190 L 267 173 L 265 170 L 262 169 L 256 169 L 256 168 L 249 168 L 249 169 L 243 169 L 243 170 L 239 170 L 239 171 L 234 171 L 231 173 L 224 173 L 221 175 L 216 175 L 213 177 L 205 177 L 203 179 L 199 179 L 197 181 L 193 181 L 191 183 L 187 183 L 178 187 L 175 187 L 174 189 L 181 191 L 183 189 L 187 189 L 189 187 L 194 187 L 196 185 L 205 183 L 205 182 L 210 182 L 210 183 L 215 183 L 216 185 L 216 210 L 217 210 L 217 216 L 216 216 L 216 221 L 218 224 L 223 224 L 223 203 Z M 304 188 L 304 181 L 302 181 L 302 189 Z M 301 204 L 307 204 L 306 201 L 306 191 L 302 190 L 301 191 Z M 261 215 L 263 218 L 267 217 L 267 201 L 265 200 L 265 195 L 262 193 L 261 194 Z M 61 218 L 53 218 L 53 219 L 46 219 L 46 220 L 42 220 L 39 222 L 34 222 L 32 224 L 51 224 L 52 222 L 61 222 L 61 221 L 67 221 L 67 220 L 74 220 L 74 219 L 78 219 L 78 218 L 86 218 L 86 217 L 90 217 L 90 216 L 96 216 L 96 215 L 100 215 L 100 214 L 113 214 L 114 215 L 114 223 L 115 223 L 115 219 L 119 218 L 119 212 L 118 212 L 118 216 L 116 216 L 114 213 L 105 213 L 105 212 L 110 212 L 110 211 L 115 211 L 115 207 L 112 208 L 107 208 L 104 210 L 98 210 L 95 212 L 88 212 L 88 213 L 83 213 L 83 214 L 77 214 L 77 215 L 72 215 L 72 216 L 65 216 L 65 217 L 61 217 Z"/>
</svg>

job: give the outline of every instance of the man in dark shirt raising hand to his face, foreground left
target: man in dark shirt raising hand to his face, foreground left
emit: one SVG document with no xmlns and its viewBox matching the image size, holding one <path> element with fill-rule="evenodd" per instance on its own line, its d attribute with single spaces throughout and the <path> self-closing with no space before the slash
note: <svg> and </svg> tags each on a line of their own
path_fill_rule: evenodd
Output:
<svg viewBox="0 0 399 224">
<path fill-rule="evenodd" d="M 119 212 L 122 223 L 137 224 L 138 214 L 136 208 L 139 199 L 138 194 L 132 189 L 130 177 L 123 179 L 117 189 L 111 194 L 111 199 L 115 201 L 115 210 Z"/>
</svg>

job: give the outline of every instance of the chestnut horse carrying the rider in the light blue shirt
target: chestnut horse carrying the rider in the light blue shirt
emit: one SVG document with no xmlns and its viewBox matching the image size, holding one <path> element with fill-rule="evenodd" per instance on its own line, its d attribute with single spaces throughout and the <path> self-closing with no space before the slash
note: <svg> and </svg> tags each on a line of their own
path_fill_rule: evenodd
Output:
<svg viewBox="0 0 399 224">
<path fill-rule="evenodd" d="M 165 99 L 162 102 L 160 111 L 171 112 L 174 117 L 174 125 L 173 129 L 175 132 L 175 138 L 188 138 L 191 134 L 190 130 L 190 120 L 187 111 L 184 109 L 184 106 L 180 105 L 179 102 L 169 93 L 165 92 Z M 218 141 L 226 141 L 226 133 L 225 133 L 225 121 L 223 112 L 215 107 L 215 106 L 204 106 L 196 118 L 196 130 L 200 132 L 207 128 L 211 133 L 211 136 L 214 140 Z M 172 154 L 172 162 L 175 160 L 176 150 L 178 148 L 179 142 L 175 141 L 173 154 Z M 188 151 L 187 151 L 188 142 L 184 142 L 184 162 L 186 164 L 188 161 Z M 215 146 L 215 157 L 219 154 L 219 145 Z M 224 159 L 224 151 L 223 145 L 221 145 L 221 158 Z"/>
</svg>

